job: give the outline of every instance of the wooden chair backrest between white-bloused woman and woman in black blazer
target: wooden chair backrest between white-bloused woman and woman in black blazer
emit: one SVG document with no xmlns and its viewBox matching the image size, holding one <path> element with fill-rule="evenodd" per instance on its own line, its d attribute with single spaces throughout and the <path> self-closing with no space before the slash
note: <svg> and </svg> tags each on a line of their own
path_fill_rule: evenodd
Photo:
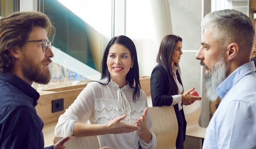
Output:
<svg viewBox="0 0 256 149">
<path fill-rule="evenodd" d="M 149 107 L 148 111 L 156 134 L 156 149 L 176 149 L 178 122 L 173 105 Z"/>
</svg>

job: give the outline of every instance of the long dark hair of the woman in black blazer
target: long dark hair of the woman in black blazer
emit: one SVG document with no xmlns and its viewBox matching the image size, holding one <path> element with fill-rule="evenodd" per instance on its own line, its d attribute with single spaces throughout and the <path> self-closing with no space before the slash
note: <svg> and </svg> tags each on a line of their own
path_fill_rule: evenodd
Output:
<svg viewBox="0 0 256 149">
<path fill-rule="evenodd" d="M 173 68 L 171 65 L 172 54 L 174 52 L 175 45 L 178 41 L 182 42 L 182 38 L 179 36 L 176 36 L 176 35 L 166 35 L 161 41 L 159 51 L 157 54 L 157 58 L 156 58 L 156 62 L 158 64 L 161 64 L 162 66 L 164 66 L 164 68 L 166 69 L 166 71 L 168 73 L 168 78 L 170 81 L 169 95 L 179 94 L 178 86 L 175 83 L 175 80 L 173 78 L 173 72 L 172 72 Z M 177 75 L 178 81 L 182 85 L 181 76 L 180 76 L 180 72 L 181 72 L 180 66 L 178 63 L 174 63 L 174 65 L 178 67 L 178 69 L 176 71 L 176 75 Z M 182 91 L 182 93 L 183 93 L 183 91 Z"/>
</svg>

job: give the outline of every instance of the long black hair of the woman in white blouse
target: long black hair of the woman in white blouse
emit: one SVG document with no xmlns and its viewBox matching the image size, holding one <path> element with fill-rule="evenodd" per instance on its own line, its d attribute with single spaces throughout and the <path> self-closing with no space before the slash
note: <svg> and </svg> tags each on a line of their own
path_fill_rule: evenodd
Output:
<svg viewBox="0 0 256 149">
<path fill-rule="evenodd" d="M 120 44 L 125 46 L 131 54 L 131 60 L 133 60 L 133 67 L 130 68 L 129 72 L 126 74 L 126 81 L 129 82 L 129 86 L 134 88 L 134 93 L 133 93 L 133 100 L 138 100 L 139 99 L 139 90 L 140 90 L 140 83 L 139 83 L 139 65 L 138 65 L 138 59 L 137 59 L 137 52 L 136 52 L 136 47 L 132 40 L 126 36 L 118 36 L 118 37 L 113 37 L 103 54 L 102 62 L 101 62 L 101 79 L 107 78 L 106 83 L 101 83 L 101 84 L 108 84 L 110 82 L 110 73 L 108 71 L 108 66 L 107 66 L 107 59 L 108 59 L 108 54 L 109 54 L 109 49 L 112 45 L 114 44 Z M 135 82 L 135 85 L 134 85 Z"/>
</svg>

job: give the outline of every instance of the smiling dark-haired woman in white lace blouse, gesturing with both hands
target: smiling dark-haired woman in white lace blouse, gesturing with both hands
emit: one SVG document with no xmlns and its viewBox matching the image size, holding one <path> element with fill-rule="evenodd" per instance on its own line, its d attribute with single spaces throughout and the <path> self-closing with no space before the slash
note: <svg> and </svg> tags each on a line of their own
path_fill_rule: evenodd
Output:
<svg viewBox="0 0 256 149">
<path fill-rule="evenodd" d="M 101 71 L 101 80 L 88 83 L 60 116 L 55 135 L 97 135 L 100 146 L 110 149 L 154 149 L 156 136 L 130 38 L 118 36 L 109 41 Z"/>
</svg>

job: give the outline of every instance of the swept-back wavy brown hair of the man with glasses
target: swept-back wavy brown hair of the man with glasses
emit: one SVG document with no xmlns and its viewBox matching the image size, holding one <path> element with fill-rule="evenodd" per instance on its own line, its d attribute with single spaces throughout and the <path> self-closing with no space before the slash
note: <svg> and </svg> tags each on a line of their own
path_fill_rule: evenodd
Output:
<svg viewBox="0 0 256 149">
<path fill-rule="evenodd" d="M 33 27 L 45 28 L 51 34 L 52 23 L 42 12 L 15 12 L 0 19 L 0 71 L 10 71 L 15 58 L 9 50 L 23 47 Z"/>
</svg>

